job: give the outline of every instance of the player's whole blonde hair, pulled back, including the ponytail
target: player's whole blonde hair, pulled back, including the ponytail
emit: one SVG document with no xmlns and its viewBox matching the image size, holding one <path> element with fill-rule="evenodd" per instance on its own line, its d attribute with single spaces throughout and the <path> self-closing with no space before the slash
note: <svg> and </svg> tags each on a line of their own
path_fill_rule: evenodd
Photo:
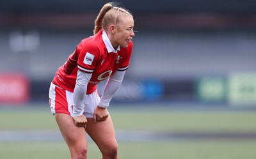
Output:
<svg viewBox="0 0 256 159">
<path fill-rule="evenodd" d="M 106 30 L 109 24 L 118 24 L 124 15 L 132 17 L 132 13 L 125 8 L 118 7 L 116 3 L 106 3 L 102 6 L 99 15 L 95 20 L 93 34 L 97 34 L 100 29 Z"/>
</svg>

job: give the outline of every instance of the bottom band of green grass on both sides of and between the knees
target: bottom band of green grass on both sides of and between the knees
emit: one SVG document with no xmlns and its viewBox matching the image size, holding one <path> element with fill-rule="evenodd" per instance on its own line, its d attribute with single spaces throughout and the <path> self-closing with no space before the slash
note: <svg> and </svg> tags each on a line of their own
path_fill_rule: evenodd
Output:
<svg viewBox="0 0 256 159">
<path fill-rule="evenodd" d="M 101 158 L 93 142 L 88 158 Z M 119 157 L 168 159 L 255 159 L 255 140 L 182 140 L 169 142 L 120 142 Z M 0 144 L 0 158 L 69 158 L 65 142 L 7 142 Z"/>
</svg>

